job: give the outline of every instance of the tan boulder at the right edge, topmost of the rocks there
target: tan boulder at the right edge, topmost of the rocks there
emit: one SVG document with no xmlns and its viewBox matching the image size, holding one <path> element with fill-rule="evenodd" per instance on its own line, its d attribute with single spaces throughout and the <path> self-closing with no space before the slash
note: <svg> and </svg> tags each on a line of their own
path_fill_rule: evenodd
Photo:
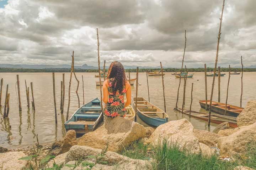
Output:
<svg viewBox="0 0 256 170">
<path fill-rule="evenodd" d="M 236 119 L 238 126 L 251 125 L 256 122 L 256 100 L 247 103 Z"/>
</svg>

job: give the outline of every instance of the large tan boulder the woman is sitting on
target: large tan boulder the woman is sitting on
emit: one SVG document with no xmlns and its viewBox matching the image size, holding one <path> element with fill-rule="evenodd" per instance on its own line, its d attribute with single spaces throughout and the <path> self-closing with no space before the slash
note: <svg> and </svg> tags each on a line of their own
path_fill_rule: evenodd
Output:
<svg viewBox="0 0 256 170">
<path fill-rule="evenodd" d="M 146 129 L 139 123 L 122 117 L 106 118 L 100 128 L 83 135 L 78 145 L 101 149 L 108 143 L 108 151 L 118 152 L 145 135 Z"/>
</svg>

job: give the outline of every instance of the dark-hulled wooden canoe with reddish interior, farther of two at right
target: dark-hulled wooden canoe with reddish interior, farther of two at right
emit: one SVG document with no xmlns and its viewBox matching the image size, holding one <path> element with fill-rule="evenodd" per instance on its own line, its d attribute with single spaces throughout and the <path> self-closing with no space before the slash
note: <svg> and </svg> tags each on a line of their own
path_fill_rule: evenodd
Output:
<svg viewBox="0 0 256 170">
<path fill-rule="evenodd" d="M 199 104 L 202 108 L 206 109 L 206 101 L 199 100 Z M 225 103 L 212 101 L 212 111 L 218 114 L 225 115 Z M 207 100 L 207 110 L 210 106 L 210 100 Z M 238 117 L 244 108 L 227 104 L 226 116 Z"/>
</svg>

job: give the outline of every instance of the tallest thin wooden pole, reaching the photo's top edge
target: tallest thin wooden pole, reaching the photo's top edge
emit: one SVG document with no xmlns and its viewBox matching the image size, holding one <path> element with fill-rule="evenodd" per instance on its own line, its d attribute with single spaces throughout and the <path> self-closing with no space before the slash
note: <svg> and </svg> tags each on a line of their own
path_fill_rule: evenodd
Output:
<svg viewBox="0 0 256 170">
<path fill-rule="evenodd" d="M 217 51 L 216 51 L 216 60 L 215 60 L 215 66 L 214 66 L 214 72 L 213 72 L 212 91 L 211 91 L 211 96 L 210 96 L 210 108 L 209 108 L 208 126 L 210 126 L 210 116 L 211 116 L 211 112 L 212 112 L 211 107 L 212 107 L 213 89 L 214 89 L 216 68 L 217 68 L 217 63 L 218 63 L 219 41 L 220 41 L 220 34 L 221 34 L 221 26 L 222 26 L 222 17 L 223 17 L 224 6 L 225 6 L 225 0 L 223 0 L 222 14 L 221 14 L 221 17 L 220 17 L 219 34 L 218 34 Z"/>
</svg>

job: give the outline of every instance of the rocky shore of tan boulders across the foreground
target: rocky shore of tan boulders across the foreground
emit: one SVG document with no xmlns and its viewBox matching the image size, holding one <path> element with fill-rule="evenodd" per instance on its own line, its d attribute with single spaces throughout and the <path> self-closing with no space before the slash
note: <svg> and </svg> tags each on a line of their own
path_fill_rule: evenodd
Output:
<svg viewBox="0 0 256 170">
<path fill-rule="evenodd" d="M 101 127 L 80 138 L 76 138 L 75 131 L 70 130 L 63 140 L 54 142 L 52 146 L 37 146 L 40 155 L 35 156 L 35 152 L 38 153 L 36 149 L 9 151 L 0 148 L 0 170 L 36 167 L 52 170 L 153 169 L 153 158 L 132 159 L 119 154 L 134 141 L 151 148 L 165 141 L 191 154 L 202 154 L 204 157 L 217 155 L 223 161 L 233 161 L 244 157 L 247 146 L 256 143 L 256 101 L 248 102 L 237 121 L 238 128 L 231 129 L 228 123 L 222 123 L 213 133 L 194 129 L 187 119 L 169 121 L 153 129 L 121 117 L 107 118 Z M 235 169 L 253 168 L 241 164 Z"/>
</svg>

